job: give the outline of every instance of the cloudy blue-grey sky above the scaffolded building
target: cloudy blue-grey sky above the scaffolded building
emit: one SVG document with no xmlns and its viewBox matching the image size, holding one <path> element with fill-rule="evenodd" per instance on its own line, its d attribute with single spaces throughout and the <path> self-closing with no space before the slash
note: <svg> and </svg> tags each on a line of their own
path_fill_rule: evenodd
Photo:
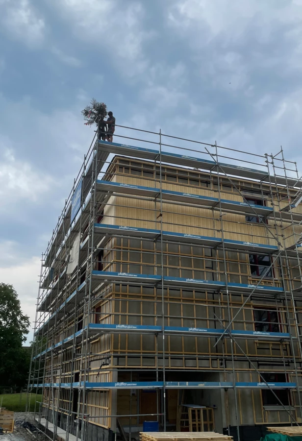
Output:
<svg viewBox="0 0 302 441">
<path fill-rule="evenodd" d="M 302 170 L 302 0 L 0 0 L 0 281 L 31 319 L 92 97 L 119 124 L 282 145 Z"/>
</svg>

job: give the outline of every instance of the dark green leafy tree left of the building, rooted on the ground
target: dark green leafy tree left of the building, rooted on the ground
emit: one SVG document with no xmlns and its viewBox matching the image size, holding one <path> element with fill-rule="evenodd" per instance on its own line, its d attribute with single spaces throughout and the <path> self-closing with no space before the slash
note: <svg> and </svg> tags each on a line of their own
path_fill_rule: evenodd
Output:
<svg viewBox="0 0 302 441">
<path fill-rule="evenodd" d="M 0 386 L 26 385 L 30 354 L 22 343 L 29 324 L 13 286 L 0 283 Z"/>
</svg>

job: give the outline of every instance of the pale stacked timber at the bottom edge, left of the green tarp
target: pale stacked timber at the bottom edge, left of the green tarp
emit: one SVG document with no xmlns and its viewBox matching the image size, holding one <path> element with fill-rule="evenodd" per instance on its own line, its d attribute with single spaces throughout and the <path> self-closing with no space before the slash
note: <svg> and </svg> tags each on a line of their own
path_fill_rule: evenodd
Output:
<svg viewBox="0 0 302 441">
<path fill-rule="evenodd" d="M 141 441 L 227 441 L 233 437 L 216 432 L 141 432 Z"/>
</svg>

